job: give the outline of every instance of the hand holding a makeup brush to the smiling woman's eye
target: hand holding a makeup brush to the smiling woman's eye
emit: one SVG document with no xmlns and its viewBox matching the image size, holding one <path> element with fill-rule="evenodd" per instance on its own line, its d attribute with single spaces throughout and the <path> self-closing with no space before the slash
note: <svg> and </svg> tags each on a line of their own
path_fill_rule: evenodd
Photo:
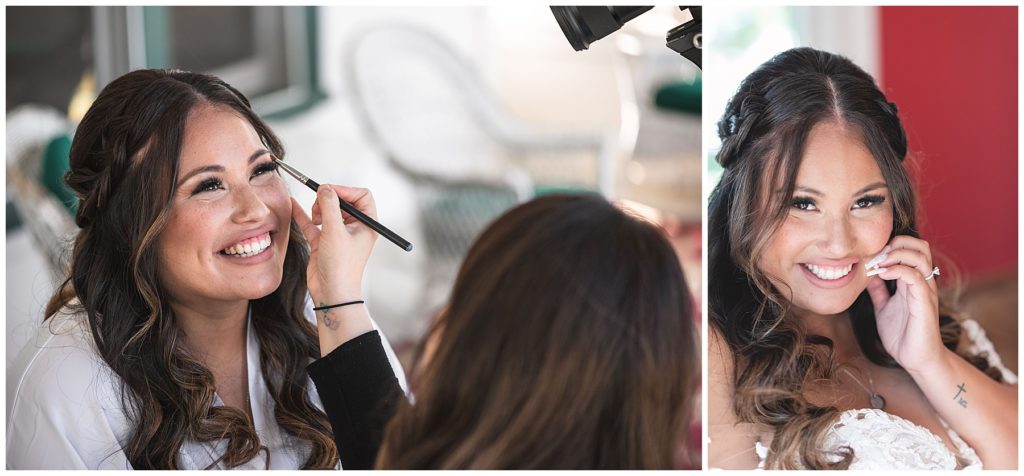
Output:
<svg viewBox="0 0 1024 476">
<path fill-rule="evenodd" d="M 339 197 L 360 212 L 377 218 L 374 197 L 366 188 L 321 185 L 316 190 L 312 218 L 292 199 L 292 216 L 309 242 L 306 286 L 316 304 L 362 299 L 362 271 L 377 241 L 374 230 L 341 211 Z"/>
</svg>

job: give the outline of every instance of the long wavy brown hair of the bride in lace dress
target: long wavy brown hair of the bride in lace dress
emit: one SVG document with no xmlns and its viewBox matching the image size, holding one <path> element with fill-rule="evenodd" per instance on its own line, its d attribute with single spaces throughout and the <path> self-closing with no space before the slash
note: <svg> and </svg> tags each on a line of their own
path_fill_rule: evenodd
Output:
<svg viewBox="0 0 1024 476">
<path fill-rule="evenodd" d="M 788 213 L 810 131 L 836 119 L 860 133 L 882 170 L 892 196 L 892 235 L 919 236 L 913 188 L 903 165 L 906 134 L 896 104 L 849 59 L 811 48 L 782 52 L 742 81 L 718 123 L 717 160 L 725 172 L 709 202 L 709 319 L 734 360 L 737 419 L 774 432 L 769 468 L 845 469 L 853 459 L 850 448 L 822 449 L 839 409 L 815 405 L 803 393 L 811 381 L 835 378 L 833 343 L 788 318 L 787 300 L 757 266 Z M 777 184 L 780 191 L 769 189 Z M 887 286 L 895 292 L 894 283 Z M 848 314 L 864 355 L 879 365 L 898 366 L 882 346 L 866 291 Z M 955 351 L 961 326 L 945 302 L 940 314 L 943 344 Z M 965 358 L 1000 379 L 983 356 Z"/>
</svg>

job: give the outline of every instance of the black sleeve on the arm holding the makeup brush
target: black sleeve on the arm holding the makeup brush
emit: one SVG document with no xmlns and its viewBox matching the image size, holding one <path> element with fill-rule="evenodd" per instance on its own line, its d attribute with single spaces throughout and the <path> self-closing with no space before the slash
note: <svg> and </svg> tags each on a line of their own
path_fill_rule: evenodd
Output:
<svg viewBox="0 0 1024 476">
<path fill-rule="evenodd" d="M 373 469 L 384 427 L 404 398 L 380 334 L 356 337 L 306 371 L 331 421 L 342 468 Z"/>
</svg>

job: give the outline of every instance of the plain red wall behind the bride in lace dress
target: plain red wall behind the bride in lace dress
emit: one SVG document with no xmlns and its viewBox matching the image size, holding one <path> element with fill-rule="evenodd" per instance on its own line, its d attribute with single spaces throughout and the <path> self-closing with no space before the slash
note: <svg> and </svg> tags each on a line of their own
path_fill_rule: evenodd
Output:
<svg viewBox="0 0 1024 476">
<path fill-rule="evenodd" d="M 966 277 L 1017 268 L 1017 8 L 881 7 L 923 237 Z"/>
</svg>

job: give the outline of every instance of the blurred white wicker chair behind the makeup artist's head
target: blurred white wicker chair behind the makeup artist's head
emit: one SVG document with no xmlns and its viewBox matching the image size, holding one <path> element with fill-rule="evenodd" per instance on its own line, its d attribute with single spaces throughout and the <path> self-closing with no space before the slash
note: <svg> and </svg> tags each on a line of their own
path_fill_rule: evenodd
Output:
<svg viewBox="0 0 1024 476">
<path fill-rule="evenodd" d="M 432 32 L 364 30 L 345 67 L 369 139 L 416 190 L 425 240 L 417 250 L 427 254 L 421 308 L 446 299 L 473 240 L 508 208 L 537 190 L 610 183 L 601 174 L 611 170 L 616 131 L 554 133 L 516 121 L 473 64 Z"/>
</svg>

